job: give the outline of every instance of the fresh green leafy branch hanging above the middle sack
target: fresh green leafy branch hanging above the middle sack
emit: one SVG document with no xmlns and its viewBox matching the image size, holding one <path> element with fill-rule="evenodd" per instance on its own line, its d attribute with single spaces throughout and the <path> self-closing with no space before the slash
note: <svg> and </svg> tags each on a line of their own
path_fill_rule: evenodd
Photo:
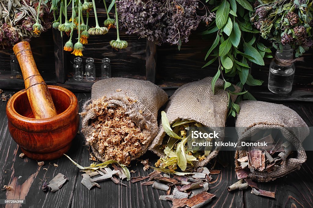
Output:
<svg viewBox="0 0 313 208">
<path fill-rule="evenodd" d="M 249 20 L 249 12 L 253 11 L 251 2 L 247 0 L 222 0 L 221 2 L 207 0 L 207 2 L 213 5 L 211 11 L 216 11 L 216 19 L 202 34 L 215 38 L 205 60 L 208 57 L 212 58 L 203 67 L 211 65 L 218 59 L 218 71 L 212 80 L 213 93 L 215 82 L 221 77 L 224 90 L 228 92 L 228 116 L 236 116 L 239 112 L 239 105 L 236 103 L 242 99 L 255 100 L 244 86 L 257 86 L 263 83 L 250 74 L 251 62 L 263 66 L 263 58 L 272 57 L 271 50 L 256 38 L 256 33 L 259 31 L 252 27 Z M 236 83 L 240 87 L 240 92 L 235 92 L 231 83 Z M 231 94 L 239 95 L 235 102 L 230 99 Z"/>
</svg>

